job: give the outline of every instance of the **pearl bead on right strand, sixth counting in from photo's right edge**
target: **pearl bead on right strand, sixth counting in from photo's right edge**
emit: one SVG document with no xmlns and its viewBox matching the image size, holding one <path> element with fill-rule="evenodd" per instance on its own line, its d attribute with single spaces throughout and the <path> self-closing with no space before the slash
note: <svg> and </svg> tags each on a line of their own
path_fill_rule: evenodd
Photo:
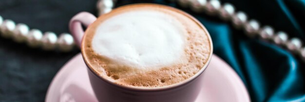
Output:
<svg viewBox="0 0 305 102">
<path fill-rule="evenodd" d="M 247 15 L 244 12 L 237 12 L 232 16 L 232 23 L 234 27 L 241 28 L 247 22 Z"/>
</svg>

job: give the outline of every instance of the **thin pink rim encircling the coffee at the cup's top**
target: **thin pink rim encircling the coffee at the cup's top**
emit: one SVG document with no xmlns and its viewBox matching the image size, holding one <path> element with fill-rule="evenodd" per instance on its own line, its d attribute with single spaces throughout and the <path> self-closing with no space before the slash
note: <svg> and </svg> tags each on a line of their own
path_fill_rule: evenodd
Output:
<svg viewBox="0 0 305 102">
<path fill-rule="evenodd" d="M 120 9 L 124 9 L 124 8 L 127 8 L 127 7 L 133 7 L 133 6 L 153 6 L 153 7 L 162 7 L 162 8 L 165 8 L 165 9 L 168 9 L 168 10 L 171 10 L 171 11 L 174 11 L 174 12 L 177 12 L 179 14 L 182 14 L 182 15 L 185 15 L 187 17 L 189 17 L 191 20 L 193 20 L 197 25 L 199 25 L 203 30 L 204 32 L 207 34 L 207 37 L 209 38 L 209 42 L 210 42 L 210 54 L 209 54 L 209 58 L 208 58 L 208 61 L 206 62 L 206 64 L 196 73 L 194 74 L 193 76 L 191 76 L 190 78 L 184 80 L 184 81 L 181 81 L 179 83 L 175 83 L 175 84 L 172 84 L 172 85 L 168 85 L 168 86 L 162 86 L 162 87 L 135 87 L 135 86 L 124 86 L 124 85 L 119 85 L 119 84 L 116 84 L 112 81 L 109 81 L 105 78 L 103 78 L 102 76 L 98 75 L 97 72 L 92 69 L 92 66 L 90 66 L 89 64 L 87 64 L 87 60 L 86 60 L 86 55 L 85 55 L 85 50 L 83 50 L 83 39 L 82 39 L 82 42 L 81 42 L 81 55 L 83 56 L 83 59 L 86 63 L 86 66 L 88 67 L 88 69 L 95 75 L 97 76 L 98 78 L 100 78 L 101 80 L 105 81 L 106 83 L 110 84 L 110 85 L 114 85 L 116 87 L 120 87 L 120 88 L 123 88 L 123 89 L 128 89 L 128 90 L 136 90 L 136 91 L 161 91 L 161 90 L 167 90 L 167 89 L 172 89 L 172 88 L 175 88 L 175 87 L 180 87 L 182 85 L 185 85 L 185 84 L 188 84 L 189 82 L 191 82 L 192 80 L 196 79 L 199 75 L 201 75 L 205 69 L 208 67 L 209 63 L 210 63 L 210 60 L 211 60 L 211 57 L 212 57 L 212 54 L 213 54 L 213 43 L 212 43 L 212 39 L 210 37 L 210 33 L 208 32 L 208 30 L 205 28 L 205 26 L 203 26 L 196 18 L 194 18 L 193 16 L 191 16 L 190 14 L 182 11 L 182 10 L 179 10 L 179 9 L 176 9 L 174 7 L 171 7 L 171 6 L 167 6 L 167 5 L 162 5 L 162 4 L 154 4 L 154 3 L 136 3 L 136 4 L 128 4 L 128 5 L 124 5 L 124 6 L 121 6 L 121 7 L 118 7 L 118 8 L 115 8 L 113 11 L 117 11 L 117 10 L 120 10 Z M 113 12 L 111 11 L 111 12 Z M 110 12 L 110 13 L 111 13 Z M 107 15 L 107 14 L 106 14 Z M 98 19 L 101 19 L 102 18 L 102 15 L 99 16 L 97 18 Z M 95 20 L 95 21 L 97 21 Z M 95 22 L 94 22 L 95 23 Z M 90 25 L 88 26 L 88 28 L 90 28 Z M 85 31 L 84 35 L 87 33 L 88 30 Z"/>
</svg>

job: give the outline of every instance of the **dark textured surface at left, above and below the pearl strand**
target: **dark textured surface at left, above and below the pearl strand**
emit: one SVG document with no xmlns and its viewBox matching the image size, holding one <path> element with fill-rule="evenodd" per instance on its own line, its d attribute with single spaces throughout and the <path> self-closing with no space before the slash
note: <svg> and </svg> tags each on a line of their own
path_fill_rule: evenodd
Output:
<svg viewBox="0 0 305 102">
<path fill-rule="evenodd" d="M 0 0 L 0 15 L 30 28 L 68 32 L 70 18 L 95 13 L 96 0 Z M 0 38 L 0 102 L 43 102 L 57 71 L 79 50 L 43 51 Z"/>
</svg>

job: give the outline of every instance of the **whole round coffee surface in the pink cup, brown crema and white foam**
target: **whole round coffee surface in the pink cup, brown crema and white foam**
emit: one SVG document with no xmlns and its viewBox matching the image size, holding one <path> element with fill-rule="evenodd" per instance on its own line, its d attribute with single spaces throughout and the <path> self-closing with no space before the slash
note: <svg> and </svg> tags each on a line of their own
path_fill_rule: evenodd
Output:
<svg viewBox="0 0 305 102">
<path fill-rule="evenodd" d="M 123 86 L 163 87 L 196 74 L 209 60 L 210 36 L 190 15 L 153 5 L 128 5 L 101 15 L 82 41 L 88 66 Z"/>
</svg>

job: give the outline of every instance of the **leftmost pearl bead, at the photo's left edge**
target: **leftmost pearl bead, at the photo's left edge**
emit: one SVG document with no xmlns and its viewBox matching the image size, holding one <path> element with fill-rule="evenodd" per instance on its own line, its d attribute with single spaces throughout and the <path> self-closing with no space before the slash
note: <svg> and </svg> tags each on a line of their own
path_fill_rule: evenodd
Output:
<svg viewBox="0 0 305 102">
<path fill-rule="evenodd" d="M 15 22 L 12 20 L 4 20 L 0 25 L 1 35 L 4 38 L 9 38 L 13 35 L 13 30 L 15 29 Z"/>
</svg>

